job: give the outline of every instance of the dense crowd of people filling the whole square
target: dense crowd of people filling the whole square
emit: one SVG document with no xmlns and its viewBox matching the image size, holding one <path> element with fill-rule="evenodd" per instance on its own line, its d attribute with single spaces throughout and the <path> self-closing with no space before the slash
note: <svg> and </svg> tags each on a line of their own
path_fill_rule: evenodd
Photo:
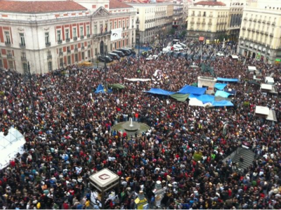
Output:
<svg viewBox="0 0 281 210">
<path fill-rule="evenodd" d="M 228 84 L 237 91 L 234 107 L 192 107 L 143 92 L 178 91 L 198 76 L 210 76 L 190 67 L 200 62 L 161 55 L 141 58 L 139 67 L 138 58 L 107 69 L 72 65 L 34 75 L 31 86 L 24 75 L 1 71 L 1 131 L 18 129 L 26 144 L 25 153 L 0 170 L 0 208 L 93 208 L 89 176 L 107 168 L 121 183 L 119 203 L 110 200 L 109 209 L 135 209 L 140 190 L 154 208 L 156 181 L 164 188 L 162 209 L 281 209 L 280 96 L 265 96 L 258 85 L 247 83 L 253 78 L 247 67 L 254 65 L 263 79 L 274 73 L 280 93 L 280 67 L 242 58 L 211 62 L 217 77 L 240 78 Z M 159 81 L 125 79 L 151 78 L 155 70 L 162 71 Z M 125 88 L 94 93 L 105 83 Z M 277 122 L 254 117 L 256 105 L 275 110 Z M 151 129 L 136 136 L 112 129 L 129 117 Z M 256 158 L 248 169 L 236 171 L 223 159 L 244 143 Z M 200 161 L 195 152 L 202 154 Z"/>
</svg>

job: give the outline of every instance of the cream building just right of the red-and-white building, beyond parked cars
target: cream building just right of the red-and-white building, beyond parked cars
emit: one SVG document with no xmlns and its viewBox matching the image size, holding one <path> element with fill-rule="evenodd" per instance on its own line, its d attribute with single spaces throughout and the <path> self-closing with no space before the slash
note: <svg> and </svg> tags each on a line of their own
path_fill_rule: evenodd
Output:
<svg viewBox="0 0 281 210">
<path fill-rule="evenodd" d="M 136 10 L 136 44 L 155 44 L 164 39 L 173 24 L 173 4 L 128 4 Z"/>
</svg>

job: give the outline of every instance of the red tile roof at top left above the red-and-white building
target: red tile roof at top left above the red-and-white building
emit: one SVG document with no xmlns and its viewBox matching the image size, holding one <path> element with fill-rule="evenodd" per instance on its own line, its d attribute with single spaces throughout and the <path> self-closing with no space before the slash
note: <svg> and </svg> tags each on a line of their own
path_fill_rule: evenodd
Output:
<svg viewBox="0 0 281 210">
<path fill-rule="evenodd" d="M 12 13 L 50 13 L 60 11 L 86 11 L 74 1 L 1 1 L 0 11 Z"/>
</svg>

